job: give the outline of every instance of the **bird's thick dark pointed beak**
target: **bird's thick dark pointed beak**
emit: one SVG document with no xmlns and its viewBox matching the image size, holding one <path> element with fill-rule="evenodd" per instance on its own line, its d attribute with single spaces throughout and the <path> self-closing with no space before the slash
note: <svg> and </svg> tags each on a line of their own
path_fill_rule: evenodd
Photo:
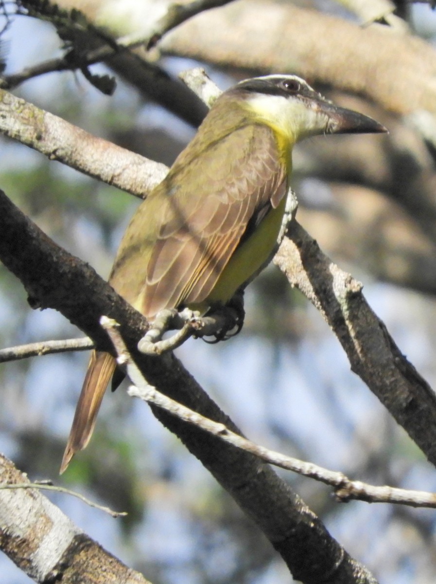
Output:
<svg viewBox="0 0 436 584">
<path fill-rule="evenodd" d="M 319 110 L 329 117 L 329 134 L 375 134 L 388 130 L 372 117 L 338 107 L 328 102 L 318 102 Z"/>
</svg>

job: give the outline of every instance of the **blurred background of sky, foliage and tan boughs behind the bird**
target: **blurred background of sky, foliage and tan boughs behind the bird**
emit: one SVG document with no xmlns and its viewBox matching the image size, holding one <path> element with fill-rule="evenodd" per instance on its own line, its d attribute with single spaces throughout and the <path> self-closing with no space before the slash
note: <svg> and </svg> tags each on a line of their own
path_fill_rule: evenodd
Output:
<svg viewBox="0 0 436 584">
<path fill-rule="evenodd" d="M 194 98 L 168 98 L 168 79 L 197 65 L 221 89 L 253 75 L 295 72 L 336 103 L 385 124 L 388 136 L 317 137 L 297 148 L 297 218 L 363 282 L 368 303 L 434 387 L 436 13 L 425 3 L 381 4 L 381 16 L 370 15 L 377 22 L 368 23 L 353 2 L 242 0 L 139 51 L 138 71 L 119 62 L 111 70 L 94 65 L 92 72 L 115 75 L 112 96 L 73 72 L 37 77 L 13 92 L 167 165 L 202 116 Z M 133 25 L 146 27 L 164 9 L 159 2 L 59 5 L 77 6 L 115 36 L 138 32 Z M 377 12 L 380 5 L 367 6 Z M 11 16 L 2 43 L 6 75 L 61 54 L 51 23 L 28 16 Z M 108 276 L 138 200 L 3 138 L 0 186 L 58 244 Z M 436 491 L 434 468 L 351 373 L 321 315 L 276 267 L 248 288 L 245 310 L 237 337 L 218 345 L 190 340 L 177 353 L 246 436 L 362 481 Z M 73 336 L 80 331 L 62 315 L 30 310 L 22 284 L 0 266 L 2 347 Z M 127 397 L 125 385 L 107 395 L 92 442 L 58 477 L 87 359 L 68 353 L 0 366 L 0 450 L 30 479 L 51 478 L 127 511 L 115 520 L 75 498 L 49 495 L 154 584 L 289 582 L 268 541 L 147 406 Z M 434 510 L 340 505 L 326 486 L 279 472 L 381 582 L 433 584 Z M 0 583 L 29 581 L 0 557 Z"/>
</svg>

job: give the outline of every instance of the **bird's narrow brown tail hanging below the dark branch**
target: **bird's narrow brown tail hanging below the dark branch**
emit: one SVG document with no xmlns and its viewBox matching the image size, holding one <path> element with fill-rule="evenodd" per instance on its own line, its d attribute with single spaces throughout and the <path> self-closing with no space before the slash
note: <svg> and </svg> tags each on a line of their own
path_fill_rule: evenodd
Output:
<svg viewBox="0 0 436 584">
<path fill-rule="evenodd" d="M 93 351 L 83 381 L 82 392 L 76 406 L 73 425 L 62 458 L 61 474 L 78 450 L 86 447 L 92 436 L 97 413 L 104 392 L 117 366 L 117 361 L 109 353 Z"/>
</svg>

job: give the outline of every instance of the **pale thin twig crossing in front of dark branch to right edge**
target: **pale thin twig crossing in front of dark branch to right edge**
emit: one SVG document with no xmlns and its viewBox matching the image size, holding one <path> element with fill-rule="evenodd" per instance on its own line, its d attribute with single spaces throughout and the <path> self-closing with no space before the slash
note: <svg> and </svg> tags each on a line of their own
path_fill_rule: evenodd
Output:
<svg viewBox="0 0 436 584">
<path fill-rule="evenodd" d="M 117 323 L 107 317 L 101 318 L 101 325 L 106 329 L 115 350 L 118 354 L 119 362 L 126 364 L 127 373 L 131 381 L 135 384 L 129 387 L 128 394 L 132 397 L 139 397 L 149 404 L 156 405 L 166 410 L 171 415 L 184 420 L 190 424 L 200 427 L 205 432 L 209 432 L 233 446 L 245 450 L 261 458 L 269 464 L 284 468 L 305 477 L 314 478 L 324 482 L 326 485 L 335 488 L 336 498 L 342 502 L 351 499 L 364 500 L 368 503 L 396 503 L 398 505 L 409 505 L 413 507 L 433 507 L 436 508 L 436 493 L 425 491 L 410 491 L 406 489 L 394 488 L 391 486 L 375 486 L 361 481 L 352 481 L 342 472 L 332 471 L 317 464 L 308 463 L 274 450 L 259 446 L 251 440 L 240 436 L 229 430 L 223 423 L 217 423 L 192 409 L 178 403 L 174 399 L 161 394 L 155 387 L 148 384 L 143 378 L 138 367 L 133 361 L 128 349 L 122 340 L 117 329 Z"/>
</svg>

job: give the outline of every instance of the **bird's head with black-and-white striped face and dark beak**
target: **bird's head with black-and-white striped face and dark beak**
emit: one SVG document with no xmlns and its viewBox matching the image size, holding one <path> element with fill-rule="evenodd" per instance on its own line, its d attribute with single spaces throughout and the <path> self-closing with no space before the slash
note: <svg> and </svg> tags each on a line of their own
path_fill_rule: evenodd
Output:
<svg viewBox="0 0 436 584">
<path fill-rule="evenodd" d="M 386 128 L 353 110 L 333 105 L 296 75 L 245 79 L 230 89 L 245 109 L 296 142 L 316 134 L 386 132 Z"/>
</svg>

